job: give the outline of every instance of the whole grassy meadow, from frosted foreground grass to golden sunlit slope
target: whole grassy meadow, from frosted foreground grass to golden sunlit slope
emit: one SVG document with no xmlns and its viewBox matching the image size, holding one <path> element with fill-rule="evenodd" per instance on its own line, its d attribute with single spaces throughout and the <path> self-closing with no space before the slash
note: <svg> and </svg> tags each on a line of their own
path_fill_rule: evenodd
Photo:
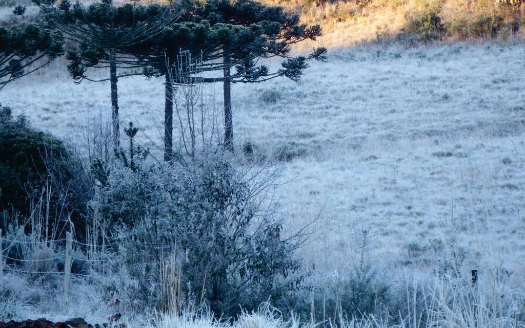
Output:
<svg viewBox="0 0 525 328">
<path fill-rule="evenodd" d="M 327 46 L 328 60 L 311 62 L 298 82 L 232 85 L 235 162 L 254 171 L 271 163 L 270 174 L 278 174 L 267 196 L 282 218 L 283 236 L 307 226 L 309 238 L 297 253 L 306 285 L 319 287 L 322 296 L 316 298 L 311 288 L 300 297 L 303 308 L 323 317 L 305 320 L 301 313 L 262 305 L 226 323 L 199 311 L 135 315 L 136 309 L 126 307 L 119 310 L 127 326 L 525 327 L 525 45 L 521 31 L 505 30 L 522 9 L 509 11 L 493 1 L 270 3 L 320 23 L 325 35 L 293 51 Z M 4 23 L 7 8 L 0 7 Z M 450 31 L 444 40 L 405 34 L 428 13 Z M 494 38 L 478 35 L 485 27 L 454 32 L 485 14 L 503 17 Z M 9 83 L 0 103 L 63 139 L 88 162 L 94 143 L 110 143 L 110 84 L 75 84 L 66 65 L 59 58 Z M 104 70 L 88 73 L 109 76 Z M 163 82 L 133 76 L 118 83 L 121 127 L 138 126 L 138 144 L 159 161 Z M 222 85 L 202 84 L 197 92 L 220 143 Z M 183 96 L 178 88 L 176 110 L 184 110 Z M 177 124 L 176 147 L 186 128 Z M 479 275 L 474 287 L 471 270 Z M 93 277 L 72 281 L 66 307 L 43 299 L 56 290 L 38 289 L 20 277 L 16 271 L 0 277 L 2 287 L 18 290 L 11 303 L 0 303 L 0 318 L 11 311 L 18 319 L 82 316 L 103 322 L 114 311 L 104 305 L 106 295 Z M 358 319 L 324 311 L 330 302 L 332 309 L 350 302 L 349 277 L 373 285 L 374 314 Z M 387 304 L 381 303 L 383 283 Z"/>
</svg>

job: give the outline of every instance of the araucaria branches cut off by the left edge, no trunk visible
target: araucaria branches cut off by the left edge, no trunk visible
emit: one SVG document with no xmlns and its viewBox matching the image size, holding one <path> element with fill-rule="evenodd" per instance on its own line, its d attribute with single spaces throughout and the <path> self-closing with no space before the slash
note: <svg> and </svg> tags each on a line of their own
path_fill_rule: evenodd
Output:
<svg viewBox="0 0 525 328">
<path fill-rule="evenodd" d="M 22 15 L 24 10 L 17 7 L 15 13 Z M 60 56 L 62 44 L 60 33 L 34 24 L 0 27 L 0 89 Z"/>
</svg>

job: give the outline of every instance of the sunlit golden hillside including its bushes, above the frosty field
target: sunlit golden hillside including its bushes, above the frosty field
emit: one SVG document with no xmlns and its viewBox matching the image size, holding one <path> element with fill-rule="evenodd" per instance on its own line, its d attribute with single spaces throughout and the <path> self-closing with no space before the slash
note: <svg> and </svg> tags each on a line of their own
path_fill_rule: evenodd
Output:
<svg viewBox="0 0 525 328">
<path fill-rule="evenodd" d="M 525 6 L 509 5 L 507 0 L 262 1 L 300 14 L 305 23 L 321 24 L 325 35 L 319 43 L 328 47 L 385 39 L 521 39 L 525 17 Z"/>
</svg>

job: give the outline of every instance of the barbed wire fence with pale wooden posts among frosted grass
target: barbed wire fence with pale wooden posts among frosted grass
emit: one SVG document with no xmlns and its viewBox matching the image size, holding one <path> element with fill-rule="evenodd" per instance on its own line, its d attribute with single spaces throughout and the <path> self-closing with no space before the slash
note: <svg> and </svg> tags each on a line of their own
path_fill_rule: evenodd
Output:
<svg viewBox="0 0 525 328">
<path fill-rule="evenodd" d="M 88 234 L 85 242 L 81 242 L 71 232 L 66 233 L 66 238 L 46 239 L 38 231 L 39 228 L 35 228 L 29 235 L 3 235 L 0 229 L 0 282 L 25 279 L 30 283 L 24 286 L 31 290 L 34 288 L 42 296 L 56 298 L 56 305 L 46 303 L 46 307 L 56 307 L 57 310 L 67 308 L 74 300 L 85 298 L 87 286 L 89 292 L 96 286 L 103 293 L 114 291 L 125 294 L 126 288 L 140 285 L 139 281 L 129 276 L 128 264 L 124 264 L 128 251 L 121 249 L 120 242 L 111 242 L 100 234 L 98 237 Z M 173 245 L 166 245 L 160 240 L 148 247 L 159 254 L 171 254 L 173 250 Z M 142 256 L 140 259 L 133 258 L 132 265 L 147 268 L 151 267 L 152 261 Z M 163 263 L 159 274 L 166 274 L 164 271 L 171 265 L 170 261 Z"/>
</svg>

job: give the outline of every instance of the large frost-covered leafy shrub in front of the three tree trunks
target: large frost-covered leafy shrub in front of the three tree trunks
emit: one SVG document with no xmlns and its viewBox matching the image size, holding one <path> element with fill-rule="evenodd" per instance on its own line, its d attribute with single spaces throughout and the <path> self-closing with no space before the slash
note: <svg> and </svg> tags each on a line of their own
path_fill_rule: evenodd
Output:
<svg viewBox="0 0 525 328">
<path fill-rule="evenodd" d="M 186 167 L 113 168 L 91 203 L 111 228 L 137 298 L 163 304 L 160 272 L 171 263 L 186 300 L 235 316 L 297 288 L 295 245 L 261 212 L 250 186 L 217 151 Z"/>
</svg>

